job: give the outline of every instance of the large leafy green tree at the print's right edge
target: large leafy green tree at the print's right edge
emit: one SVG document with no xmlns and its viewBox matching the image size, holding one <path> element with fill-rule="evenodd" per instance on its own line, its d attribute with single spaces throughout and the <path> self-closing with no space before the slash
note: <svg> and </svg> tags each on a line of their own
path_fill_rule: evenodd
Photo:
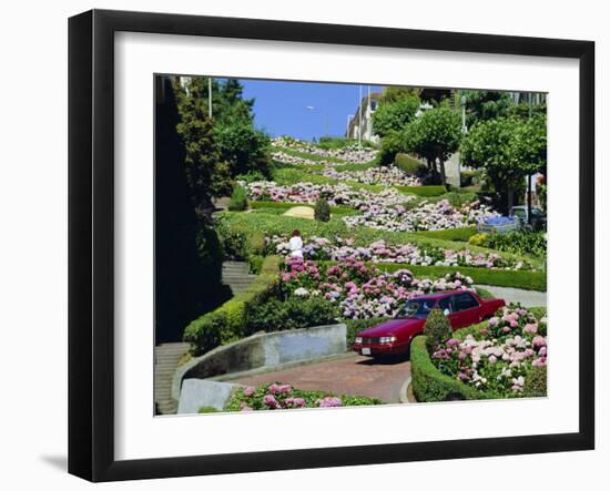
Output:
<svg viewBox="0 0 610 491">
<path fill-rule="evenodd" d="M 506 190 L 507 211 L 510 211 L 514 192 L 523 185 L 525 177 L 546 173 L 546 116 L 479 122 L 464 140 L 461 156 L 466 165 L 485 170 L 496 190 Z"/>
</svg>

